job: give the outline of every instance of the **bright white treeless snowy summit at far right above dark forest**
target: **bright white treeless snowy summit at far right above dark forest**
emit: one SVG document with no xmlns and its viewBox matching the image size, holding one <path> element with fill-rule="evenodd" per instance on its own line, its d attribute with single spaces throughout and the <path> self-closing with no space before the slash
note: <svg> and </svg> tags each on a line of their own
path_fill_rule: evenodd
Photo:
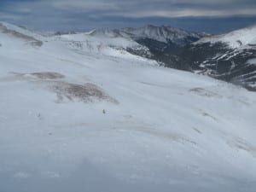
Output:
<svg viewBox="0 0 256 192">
<path fill-rule="evenodd" d="M 249 26 L 243 29 L 239 29 L 233 32 L 226 33 L 224 35 L 217 35 L 207 38 L 201 38 L 195 44 L 202 44 L 210 42 L 215 44 L 217 42 L 224 42 L 230 46 L 230 48 L 242 48 L 249 44 L 256 44 L 256 25 Z"/>
</svg>

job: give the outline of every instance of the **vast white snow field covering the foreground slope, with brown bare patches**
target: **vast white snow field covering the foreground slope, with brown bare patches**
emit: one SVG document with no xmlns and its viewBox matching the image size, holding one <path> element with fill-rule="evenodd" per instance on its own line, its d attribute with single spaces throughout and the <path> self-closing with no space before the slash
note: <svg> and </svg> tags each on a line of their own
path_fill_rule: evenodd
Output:
<svg viewBox="0 0 256 192">
<path fill-rule="evenodd" d="M 2 23 L 0 44 L 1 192 L 256 191 L 254 92 L 125 38 Z"/>
</svg>

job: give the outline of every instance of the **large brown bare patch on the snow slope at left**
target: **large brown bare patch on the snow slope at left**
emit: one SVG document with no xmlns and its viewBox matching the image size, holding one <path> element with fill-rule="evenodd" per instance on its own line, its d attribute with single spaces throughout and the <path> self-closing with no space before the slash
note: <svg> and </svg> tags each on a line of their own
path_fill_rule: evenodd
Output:
<svg viewBox="0 0 256 192">
<path fill-rule="evenodd" d="M 64 81 L 64 75 L 55 72 L 38 73 L 13 73 L 9 77 L 10 81 L 27 80 L 32 83 L 46 85 L 47 90 L 54 92 L 57 96 L 57 102 L 100 102 L 107 101 L 118 104 L 119 102 L 102 90 L 96 84 L 72 84 Z M 6 80 L 6 79 L 5 79 Z"/>
</svg>

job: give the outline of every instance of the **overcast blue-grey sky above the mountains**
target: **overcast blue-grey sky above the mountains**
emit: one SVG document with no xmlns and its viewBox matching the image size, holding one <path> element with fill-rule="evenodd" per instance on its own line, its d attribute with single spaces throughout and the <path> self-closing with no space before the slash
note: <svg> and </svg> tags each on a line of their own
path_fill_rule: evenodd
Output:
<svg viewBox="0 0 256 192">
<path fill-rule="evenodd" d="M 256 0 L 0 0 L 0 20 L 44 31 L 153 24 L 219 33 L 256 24 Z"/>
</svg>

